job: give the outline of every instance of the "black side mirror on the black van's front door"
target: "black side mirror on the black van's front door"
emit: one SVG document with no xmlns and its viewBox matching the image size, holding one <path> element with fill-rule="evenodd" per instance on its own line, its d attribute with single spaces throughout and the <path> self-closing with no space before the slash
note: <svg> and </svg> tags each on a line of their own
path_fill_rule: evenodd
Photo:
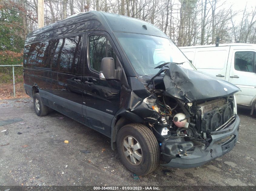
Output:
<svg viewBox="0 0 256 191">
<path fill-rule="evenodd" d="M 115 62 L 111 57 L 105 57 L 101 60 L 101 80 L 118 80 L 118 71 L 115 70 Z"/>
</svg>

